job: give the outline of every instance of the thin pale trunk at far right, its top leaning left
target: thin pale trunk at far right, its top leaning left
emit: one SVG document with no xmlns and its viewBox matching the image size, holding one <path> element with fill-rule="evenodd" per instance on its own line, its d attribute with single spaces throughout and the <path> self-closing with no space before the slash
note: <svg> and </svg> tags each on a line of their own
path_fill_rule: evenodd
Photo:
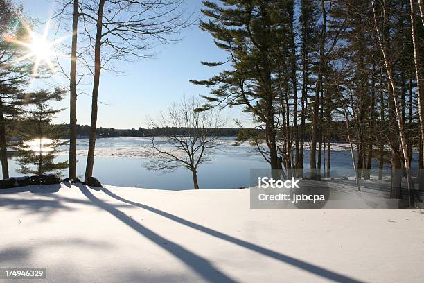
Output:
<svg viewBox="0 0 424 283">
<path fill-rule="evenodd" d="M 378 35 L 378 42 L 380 44 L 380 49 L 382 51 L 383 59 L 384 59 L 384 62 L 385 62 L 387 77 L 389 78 L 389 83 L 391 85 L 391 89 L 393 90 L 394 107 L 395 107 L 395 112 L 396 112 L 396 118 L 398 120 L 398 128 L 399 128 L 399 135 L 400 135 L 400 146 L 401 146 L 402 152 L 403 152 L 403 160 L 404 160 L 405 171 L 406 171 L 406 175 L 407 175 L 409 206 L 415 207 L 414 193 L 412 191 L 414 188 L 412 187 L 411 170 L 409 168 L 408 148 L 407 148 L 407 143 L 406 143 L 406 140 L 405 140 L 405 131 L 403 130 L 403 120 L 402 120 L 402 116 L 400 114 L 399 101 L 398 101 L 398 97 L 397 97 L 396 92 L 395 92 L 396 85 L 394 83 L 393 73 L 392 73 L 392 70 L 391 70 L 391 62 L 389 61 L 389 56 L 387 54 L 386 47 L 382 43 L 380 28 L 378 28 L 377 17 L 376 17 L 376 7 L 375 7 L 376 5 L 375 5 L 374 1 L 372 1 L 372 4 L 373 4 L 374 26 L 376 27 L 376 32 L 377 32 L 377 35 Z"/>
</svg>

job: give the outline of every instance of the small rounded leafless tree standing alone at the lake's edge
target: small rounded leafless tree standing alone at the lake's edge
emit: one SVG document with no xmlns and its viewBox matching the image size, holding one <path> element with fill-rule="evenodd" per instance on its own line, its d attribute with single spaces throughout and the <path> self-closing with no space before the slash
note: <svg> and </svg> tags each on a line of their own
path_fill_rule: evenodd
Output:
<svg viewBox="0 0 424 283">
<path fill-rule="evenodd" d="M 197 111 L 202 103 L 197 98 L 183 99 L 170 105 L 158 121 L 151 120 L 153 128 L 166 132 L 164 137 L 152 138 L 145 156 L 150 170 L 174 171 L 186 168 L 193 174 L 193 186 L 199 189 L 197 169 L 200 164 L 212 161 L 212 153 L 220 146 L 215 129 L 224 122 L 215 110 Z"/>
</svg>

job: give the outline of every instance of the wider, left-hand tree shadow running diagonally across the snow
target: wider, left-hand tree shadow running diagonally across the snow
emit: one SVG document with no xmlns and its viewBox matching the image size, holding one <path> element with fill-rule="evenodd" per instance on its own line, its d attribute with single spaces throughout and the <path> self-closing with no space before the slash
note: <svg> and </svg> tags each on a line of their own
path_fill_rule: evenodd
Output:
<svg viewBox="0 0 424 283">
<path fill-rule="evenodd" d="M 204 278 L 204 280 L 209 282 L 237 282 L 228 275 L 225 275 L 219 271 L 217 268 L 213 267 L 213 265 L 206 259 L 195 255 L 193 252 L 186 250 L 182 246 L 179 246 L 179 244 L 161 237 L 159 234 L 156 234 L 152 230 L 145 228 L 143 225 L 127 216 L 127 214 L 121 212 L 121 210 L 116 209 L 114 205 L 105 203 L 103 200 L 96 198 L 96 196 L 91 194 L 87 187 L 80 186 L 79 189 L 82 194 L 91 200 L 91 203 L 109 212 L 109 214 L 112 214 L 120 221 L 128 225 L 130 228 L 134 229 L 136 232 L 139 232 L 139 234 L 156 243 L 157 246 L 160 246 L 164 250 L 173 254 L 179 260 L 183 261 L 186 266 L 195 271 L 195 273 Z M 166 245 L 164 245 L 164 243 L 166 243 Z"/>
</svg>

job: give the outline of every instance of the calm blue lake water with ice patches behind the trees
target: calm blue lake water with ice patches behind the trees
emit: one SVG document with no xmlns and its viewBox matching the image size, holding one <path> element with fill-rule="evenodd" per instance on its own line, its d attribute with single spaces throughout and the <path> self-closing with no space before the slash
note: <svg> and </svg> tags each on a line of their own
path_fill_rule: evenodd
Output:
<svg viewBox="0 0 424 283">
<path fill-rule="evenodd" d="M 250 187 L 251 169 L 269 169 L 260 153 L 252 146 L 233 146 L 233 137 L 222 137 L 220 150 L 213 154 L 213 161 L 201 164 L 197 175 L 201 189 L 227 189 Z M 77 170 L 83 178 L 87 161 L 89 139 L 78 139 Z M 108 185 L 143 187 L 150 189 L 193 189 L 191 172 L 188 169 L 177 169 L 172 173 L 149 171 L 145 168 L 146 160 L 141 157 L 142 147 L 150 144 L 150 137 L 116 137 L 97 139 L 96 157 L 93 175 L 100 182 Z M 67 148 L 58 161 L 67 160 Z M 350 151 L 345 148 L 332 151 L 332 177 L 353 176 Z M 305 151 L 305 170 L 309 168 L 309 151 Z M 373 175 L 378 175 L 377 162 L 374 160 Z M 390 174 L 389 164 L 385 166 L 385 175 Z M 16 173 L 17 163 L 9 162 L 10 176 Z M 64 176 L 67 171 L 64 171 Z"/>
</svg>

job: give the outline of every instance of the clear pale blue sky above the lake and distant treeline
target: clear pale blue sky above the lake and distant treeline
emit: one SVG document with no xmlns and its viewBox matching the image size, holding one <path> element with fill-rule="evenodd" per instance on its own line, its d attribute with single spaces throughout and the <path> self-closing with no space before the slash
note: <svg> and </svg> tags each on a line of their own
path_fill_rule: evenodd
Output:
<svg viewBox="0 0 424 283">
<path fill-rule="evenodd" d="M 30 17 L 45 20 L 54 9 L 53 0 L 20 0 L 24 13 Z M 199 12 L 200 0 L 187 0 L 188 11 Z M 200 12 L 199 12 L 200 14 Z M 38 29 L 44 28 L 40 25 Z M 51 35 L 53 36 L 52 26 Z M 190 79 L 206 79 L 219 69 L 206 67 L 200 61 L 225 60 L 227 54 L 213 44 L 209 33 L 201 31 L 197 25 L 182 32 L 183 39 L 176 44 L 159 46 L 155 58 L 135 62 L 115 62 L 114 67 L 124 74 L 103 72 L 100 77 L 98 127 L 138 128 L 145 127 L 147 117 L 156 117 L 166 110 L 173 101 L 183 96 L 209 94 L 209 89 L 192 85 Z M 50 80 L 52 81 L 52 80 Z M 37 81 L 32 87 L 44 87 L 48 82 Z M 67 80 L 55 76 L 53 83 L 67 86 Z M 79 87 L 78 92 L 91 93 L 91 85 Z M 89 124 L 91 97 L 81 94 L 77 102 L 78 123 Z M 67 108 L 69 96 L 55 106 Z M 224 110 L 229 119 L 227 126 L 234 126 L 233 119 L 249 124 L 249 117 L 240 109 Z M 58 123 L 69 123 L 69 111 L 65 109 L 56 119 Z"/>
</svg>

